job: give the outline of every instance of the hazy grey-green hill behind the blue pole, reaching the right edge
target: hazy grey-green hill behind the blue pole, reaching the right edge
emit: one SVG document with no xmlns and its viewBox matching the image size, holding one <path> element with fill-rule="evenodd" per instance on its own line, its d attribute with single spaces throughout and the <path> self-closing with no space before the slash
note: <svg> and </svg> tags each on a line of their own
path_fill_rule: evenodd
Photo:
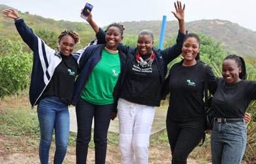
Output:
<svg viewBox="0 0 256 164">
<path fill-rule="evenodd" d="M 154 33 L 155 38 L 160 36 L 160 20 L 122 23 L 125 24 L 125 33 L 129 35 L 137 35 L 139 31 L 148 29 Z M 228 51 L 236 51 L 242 56 L 256 56 L 256 31 L 248 30 L 227 20 L 197 20 L 186 22 L 185 26 L 188 32 L 211 35 L 216 41 L 224 43 L 224 49 Z M 177 21 L 167 21 L 165 37 L 171 33 L 177 33 L 178 29 Z"/>
</svg>

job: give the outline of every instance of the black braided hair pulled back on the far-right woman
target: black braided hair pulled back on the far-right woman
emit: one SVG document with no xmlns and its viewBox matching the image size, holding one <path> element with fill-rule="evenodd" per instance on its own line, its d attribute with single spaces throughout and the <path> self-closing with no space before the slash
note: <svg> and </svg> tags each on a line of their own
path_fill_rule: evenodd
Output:
<svg viewBox="0 0 256 164">
<path fill-rule="evenodd" d="M 242 72 L 239 73 L 239 78 L 243 80 L 247 79 L 244 58 L 237 56 L 236 54 L 229 54 L 228 56 L 226 56 L 226 58 L 224 58 L 224 60 L 228 60 L 228 59 L 235 60 L 236 64 L 238 64 L 238 67 L 242 68 Z"/>
</svg>

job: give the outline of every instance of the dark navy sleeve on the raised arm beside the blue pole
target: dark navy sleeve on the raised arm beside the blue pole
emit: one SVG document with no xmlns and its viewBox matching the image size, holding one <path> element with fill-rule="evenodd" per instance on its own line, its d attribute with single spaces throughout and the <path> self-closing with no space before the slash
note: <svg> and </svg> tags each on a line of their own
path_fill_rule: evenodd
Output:
<svg viewBox="0 0 256 164">
<path fill-rule="evenodd" d="M 187 33 L 188 31 L 186 31 L 186 34 Z M 163 56 L 163 60 L 165 61 L 165 64 L 169 64 L 172 60 L 174 60 L 175 58 L 177 58 L 177 56 L 181 54 L 182 43 L 185 36 L 186 35 L 184 33 L 181 33 L 181 31 L 179 31 L 176 39 L 176 44 L 173 45 L 172 47 L 169 47 L 161 51 L 161 55 Z"/>
</svg>

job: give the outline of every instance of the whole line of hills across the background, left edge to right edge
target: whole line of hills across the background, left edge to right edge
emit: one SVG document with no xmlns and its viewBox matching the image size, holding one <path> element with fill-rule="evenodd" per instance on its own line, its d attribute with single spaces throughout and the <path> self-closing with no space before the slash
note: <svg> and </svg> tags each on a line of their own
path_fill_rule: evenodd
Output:
<svg viewBox="0 0 256 164">
<path fill-rule="evenodd" d="M 0 5 L 0 9 L 7 9 L 6 5 Z M 26 24 L 33 31 L 47 29 L 54 31 L 57 37 L 62 30 L 74 30 L 81 37 L 81 44 L 76 45 L 76 49 L 84 47 L 89 41 L 95 39 L 95 33 L 85 22 L 70 22 L 56 21 L 42 16 L 32 15 L 29 12 L 20 13 L 20 16 L 25 19 Z M 125 35 L 137 35 L 139 31 L 148 29 L 154 33 L 155 39 L 159 39 L 161 30 L 161 21 L 140 21 L 140 22 L 121 22 L 125 24 Z M 226 20 L 197 20 L 186 22 L 186 30 L 188 32 L 201 32 L 205 35 L 211 35 L 216 41 L 221 41 L 224 44 L 224 49 L 228 52 L 236 52 L 242 56 L 256 56 L 256 31 L 251 31 L 246 28 L 234 24 Z M 106 28 L 106 27 L 104 27 Z M 167 21 L 165 28 L 165 37 L 172 33 L 177 33 L 177 21 Z M 20 39 L 13 20 L 0 16 L 0 37 L 8 37 L 11 40 Z M 125 38 L 124 38 L 125 39 Z M 156 45 L 157 46 L 157 45 Z"/>
</svg>

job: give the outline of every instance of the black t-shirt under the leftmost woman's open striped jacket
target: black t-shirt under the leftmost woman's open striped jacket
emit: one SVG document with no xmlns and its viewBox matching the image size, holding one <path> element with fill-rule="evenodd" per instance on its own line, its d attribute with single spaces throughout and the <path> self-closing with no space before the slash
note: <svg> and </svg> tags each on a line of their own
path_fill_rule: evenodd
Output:
<svg viewBox="0 0 256 164">
<path fill-rule="evenodd" d="M 71 104 L 77 66 L 71 56 L 61 55 L 62 61 L 55 68 L 53 77 L 41 96 L 56 96 L 67 105 Z"/>
</svg>

